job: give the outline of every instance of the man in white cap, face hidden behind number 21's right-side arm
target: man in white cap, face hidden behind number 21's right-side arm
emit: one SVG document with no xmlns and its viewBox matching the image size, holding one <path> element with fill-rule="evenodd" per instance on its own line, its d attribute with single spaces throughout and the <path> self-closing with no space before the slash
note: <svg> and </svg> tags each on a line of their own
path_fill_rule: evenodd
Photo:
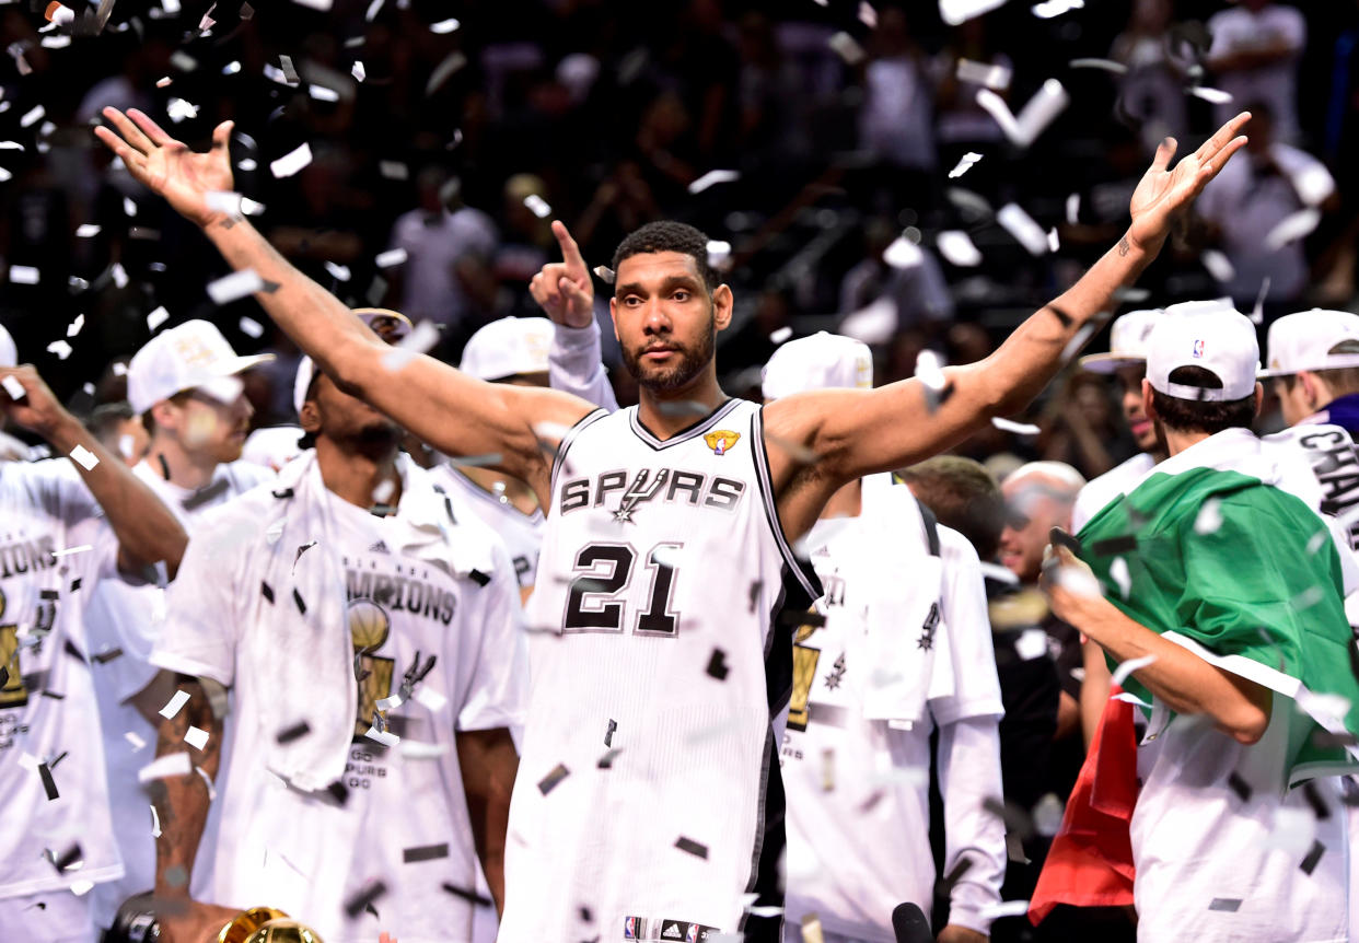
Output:
<svg viewBox="0 0 1359 943">
<path fill-rule="evenodd" d="M 764 371 L 766 401 L 871 386 L 867 345 L 826 333 L 788 341 Z M 794 639 L 784 938 L 805 939 L 814 916 L 826 940 L 894 943 L 898 904 L 930 914 L 938 727 L 945 872 L 966 861 L 939 940 L 984 942 L 1006 872 L 1004 822 L 983 807 L 1002 795 L 1004 708 L 977 553 L 890 474 L 836 492 L 806 550 L 826 594 Z"/>
</svg>

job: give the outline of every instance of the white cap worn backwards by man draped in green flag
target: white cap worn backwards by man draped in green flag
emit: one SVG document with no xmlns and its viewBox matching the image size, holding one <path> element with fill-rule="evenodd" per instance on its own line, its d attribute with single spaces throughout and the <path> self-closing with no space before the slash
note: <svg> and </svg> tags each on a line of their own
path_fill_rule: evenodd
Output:
<svg viewBox="0 0 1359 943">
<path fill-rule="evenodd" d="M 1250 319 L 1226 302 L 1188 302 L 1197 307 L 1185 317 L 1163 318 L 1147 348 L 1147 382 L 1158 393 L 1177 399 L 1230 402 L 1256 390 L 1260 341 Z M 1180 306 L 1171 306 L 1171 308 Z M 1166 308 L 1166 314 L 1173 314 Z M 1220 390 L 1171 383 L 1180 367 L 1203 367 L 1219 380 Z"/>
</svg>

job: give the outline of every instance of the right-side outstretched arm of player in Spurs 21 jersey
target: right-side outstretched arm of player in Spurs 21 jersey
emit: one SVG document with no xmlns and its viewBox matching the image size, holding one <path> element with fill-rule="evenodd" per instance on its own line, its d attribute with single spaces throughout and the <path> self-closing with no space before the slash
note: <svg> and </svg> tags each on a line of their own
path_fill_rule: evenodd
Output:
<svg viewBox="0 0 1359 943">
<path fill-rule="evenodd" d="M 1116 292 L 1161 251 L 1171 223 L 1246 143 L 1237 132 L 1249 120 L 1249 113 L 1238 114 L 1173 170 L 1176 141 L 1162 141 L 1132 194 L 1132 224 L 1118 245 L 989 357 L 946 368 L 946 387 L 935 394 L 935 404 L 928 402 L 931 391 L 920 379 L 877 390 L 817 390 L 771 404 L 765 409 L 771 470 L 788 535 L 805 533 L 844 482 L 943 451 L 1038 395 L 1061 368 L 1061 355 L 1076 334 L 1113 307 Z M 815 463 L 803 461 L 806 451 L 817 457 Z"/>
</svg>

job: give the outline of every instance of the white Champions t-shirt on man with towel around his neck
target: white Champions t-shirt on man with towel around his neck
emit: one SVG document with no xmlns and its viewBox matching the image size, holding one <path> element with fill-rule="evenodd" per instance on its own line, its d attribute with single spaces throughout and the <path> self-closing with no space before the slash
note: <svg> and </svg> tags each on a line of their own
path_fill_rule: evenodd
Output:
<svg viewBox="0 0 1359 943">
<path fill-rule="evenodd" d="M 246 514 L 254 508 L 250 497 L 239 503 Z M 328 943 L 371 943 L 379 932 L 402 943 L 461 943 L 472 927 L 465 894 L 474 886 L 477 860 L 455 732 L 522 723 L 527 671 L 514 571 L 503 545 L 476 524 L 459 522 L 459 533 L 495 545 L 495 572 L 485 586 L 398 556 L 394 522 L 329 492 L 326 497 L 348 597 L 348 625 L 336 630 L 348 636 L 356 669 L 367 673 L 355 705 L 342 806 L 291 789 L 266 772 L 283 722 L 277 698 L 260 679 L 272 677 L 262 666 L 279 656 L 279 647 L 273 626 L 242 625 L 238 616 L 260 587 L 238 586 L 234 561 L 196 558 L 192 546 L 179 571 L 175 595 L 220 616 L 183 620 L 171 610 L 152 660 L 194 674 L 211 669 L 205 674 L 232 689 L 220 826 L 215 844 L 204 837 L 215 856 L 205 861 L 200 855 L 194 897 L 280 908 Z M 231 519 L 234 507 L 207 526 L 239 526 L 239 518 Z M 217 639 L 204 637 L 213 632 Z M 208 666 L 205 654 L 213 650 L 228 655 Z M 406 674 L 425 667 L 413 697 L 386 711 L 401 742 L 383 747 L 364 736 L 378 701 L 398 694 Z M 376 882 L 386 891 L 349 916 L 345 904 Z"/>
</svg>

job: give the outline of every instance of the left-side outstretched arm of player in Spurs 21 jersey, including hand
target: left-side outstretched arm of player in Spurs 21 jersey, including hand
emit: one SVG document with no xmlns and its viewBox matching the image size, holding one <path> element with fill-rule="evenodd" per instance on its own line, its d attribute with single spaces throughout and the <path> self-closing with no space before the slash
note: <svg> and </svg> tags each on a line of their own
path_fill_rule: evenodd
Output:
<svg viewBox="0 0 1359 943">
<path fill-rule="evenodd" d="M 554 446 L 553 429 L 576 423 L 593 409 L 590 404 L 553 390 L 484 383 L 434 357 L 394 355 L 340 299 L 209 196 L 232 189 L 227 156 L 232 122 L 217 125 L 212 148 L 194 154 L 141 111 L 105 109 L 103 114 L 117 130 L 96 128 L 99 140 L 137 181 L 197 223 L 231 268 L 253 269 L 277 285 L 257 292 L 255 300 L 347 393 L 450 455 L 497 455 L 499 462 L 488 465 L 530 482 L 540 501 L 550 503 L 550 455 L 540 440 Z"/>
</svg>

